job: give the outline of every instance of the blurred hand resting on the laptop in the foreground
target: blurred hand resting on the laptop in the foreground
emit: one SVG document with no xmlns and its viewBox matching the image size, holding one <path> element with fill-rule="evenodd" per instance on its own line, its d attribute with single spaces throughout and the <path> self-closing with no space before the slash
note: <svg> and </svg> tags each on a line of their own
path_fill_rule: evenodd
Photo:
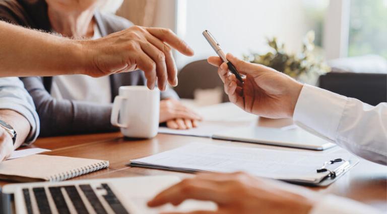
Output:
<svg viewBox="0 0 387 214">
<path fill-rule="evenodd" d="M 151 207 L 166 203 L 178 205 L 186 199 L 210 200 L 218 205 L 216 211 L 201 213 L 309 213 L 317 193 L 280 181 L 264 180 L 246 173 L 206 173 L 185 179 L 162 191 L 148 202 Z M 173 212 L 182 214 L 181 212 Z"/>
</svg>

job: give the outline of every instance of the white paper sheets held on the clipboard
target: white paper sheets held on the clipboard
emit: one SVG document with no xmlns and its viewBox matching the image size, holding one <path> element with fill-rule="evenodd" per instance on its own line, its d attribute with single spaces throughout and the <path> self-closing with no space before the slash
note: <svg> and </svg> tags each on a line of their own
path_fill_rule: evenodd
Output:
<svg viewBox="0 0 387 214">
<path fill-rule="evenodd" d="M 133 160 L 131 165 L 179 171 L 244 171 L 260 177 L 314 182 L 328 175 L 328 172 L 317 173 L 316 170 L 325 162 L 337 158 L 356 159 L 342 151 L 327 154 L 191 143 Z"/>
</svg>

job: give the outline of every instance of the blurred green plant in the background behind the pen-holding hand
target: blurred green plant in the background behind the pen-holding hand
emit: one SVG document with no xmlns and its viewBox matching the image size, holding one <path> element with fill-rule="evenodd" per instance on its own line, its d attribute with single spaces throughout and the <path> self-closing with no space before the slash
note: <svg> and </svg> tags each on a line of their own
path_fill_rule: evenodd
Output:
<svg viewBox="0 0 387 214">
<path fill-rule="evenodd" d="M 302 43 L 301 52 L 294 54 L 285 50 L 285 45 L 277 38 L 268 39 L 271 51 L 266 54 L 250 53 L 244 55 L 246 61 L 259 63 L 283 72 L 301 82 L 315 85 L 319 75 L 331 68 L 315 51 L 314 32 L 309 31 Z"/>
</svg>

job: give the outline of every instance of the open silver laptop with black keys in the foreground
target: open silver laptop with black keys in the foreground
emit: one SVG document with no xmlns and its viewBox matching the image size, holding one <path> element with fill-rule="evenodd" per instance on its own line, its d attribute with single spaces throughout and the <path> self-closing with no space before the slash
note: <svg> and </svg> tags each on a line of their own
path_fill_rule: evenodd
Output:
<svg viewBox="0 0 387 214">
<path fill-rule="evenodd" d="M 195 200 L 186 201 L 178 207 L 147 206 L 148 200 L 179 181 L 175 176 L 146 176 L 9 184 L 3 186 L 1 211 L 18 214 L 137 214 L 216 208 L 212 202 Z"/>
</svg>

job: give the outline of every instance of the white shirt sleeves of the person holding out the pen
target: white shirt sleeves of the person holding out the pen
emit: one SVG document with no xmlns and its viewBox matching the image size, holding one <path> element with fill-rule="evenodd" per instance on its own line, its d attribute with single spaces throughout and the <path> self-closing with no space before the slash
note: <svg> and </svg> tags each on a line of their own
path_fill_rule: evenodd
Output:
<svg viewBox="0 0 387 214">
<path fill-rule="evenodd" d="M 351 153 L 387 165 L 387 103 L 372 106 L 310 85 L 304 85 L 293 120 L 301 128 Z M 338 196 L 321 198 L 312 214 L 378 213 L 372 207 Z"/>
</svg>

